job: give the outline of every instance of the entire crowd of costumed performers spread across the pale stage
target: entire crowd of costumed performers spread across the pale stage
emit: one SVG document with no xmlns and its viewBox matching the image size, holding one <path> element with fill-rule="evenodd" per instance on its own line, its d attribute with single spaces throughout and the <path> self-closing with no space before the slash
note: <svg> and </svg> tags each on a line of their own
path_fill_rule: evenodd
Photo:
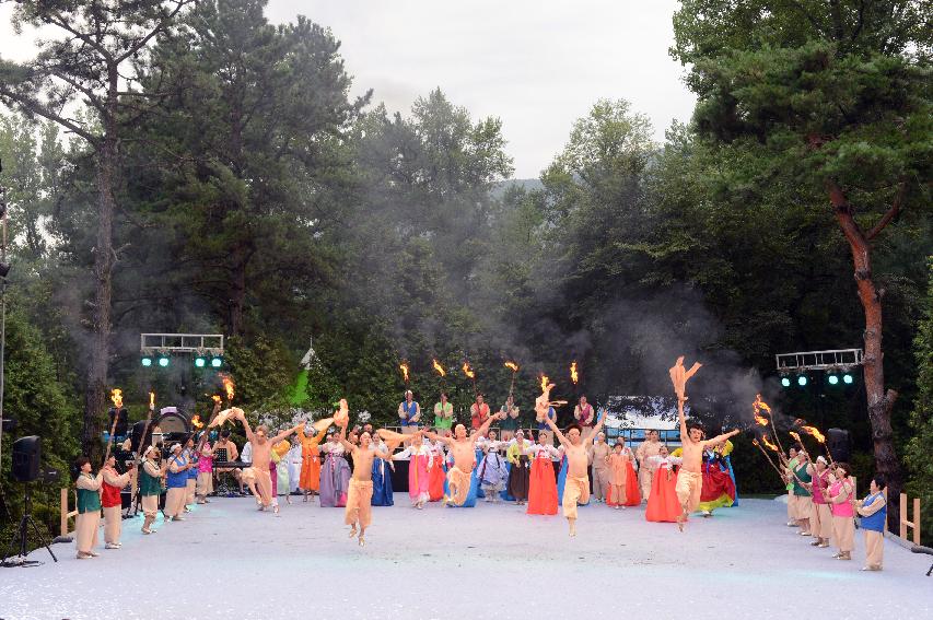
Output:
<svg viewBox="0 0 933 620">
<path fill-rule="evenodd" d="M 394 503 L 392 470 L 401 459 L 409 464 L 408 494 L 415 508 L 430 502 L 471 507 L 485 500 L 514 502 L 529 515 L 556 515 L 560 505 L 570 536 L 576 535 L 578 505 L 591 500 L 615 510 L 643 505 L 646 520 L 676 523 L 681 530 L 691 513 L 709 517 L 716 508 L 737 504 L 728 441 L 737 430 L 707 440 L 699 424 L 687 423 L 681 408 L 680 447 L 668 452 L 657 431 L 650 431 L 632 451 L 621 438 L 611 445 L 606 441 L 602 432 L 605 416 L 598 416 L 585 397 L 574 408 L 573 423 L 559 429 L 555 403 L 549 400 L 552 387 L 546 386 L 536 399 L 530 429 L 523 428 L 511 396 L 492 413 L 478 395 L 470 407 L 468 431 L 466 424 L 453 423 L 446 395 L 441 395 L 433 419 L 428 421 L 422 420 L 421 407 L 408 391 L 398 408 L 400 433 L 374 430 L 371 424 L 350 430 L 346 401 L 334 418 L 315 422 L 314 428 L 302 423 L 271 436 L 265 425 L 253 429 L 243 411 L 233 408 L 228 410 L 228 419 L 242 424 L 247 440 L 242 452 L 230 440 L 230 431 L 221 430 L 213 445 L 202 441 L 196 447 L 189 438 L 185 445 L 170 446 L 165 455 L 150 446 L 140 467 L 123 475 L 117 473 L 114 457 L 96 477 L 88 459 L 81 459 L 78 557 L 97 554 L 102 507 L 105 548 L 119 548 L 120 490 L 137 475 L 143 534 L 155 533 L 152 526 L 163 487 L 167 488 L 165 522 L 179 522 L 194 503 L 210 501 L 214 476 L 229 473 L 241 489 L 248 488 L 259 511 L 278 515 L 278 498 L 283 495 L 291 503 L 296 491 L 305 502 L 317 496 L 323 507 L 343 507 L 350 536 L 361 546 L 372 522 L 372 506 Z M 499 432 L 490 429 L 493 422 Z M 221 449 L 228 461 L 240 458 L 250 466 L 214 471 L 213 457 Z M 858 512 L 863 516 L 868 549 L 865 570 L 880 570 L 884 481 L 876 477 L 871 494 L 854 502 L 845 464 L 828 468 L 821 457 L 810 463 L 796 448 L 786 465 L 788 525 L 813 536 L 815 547 L 835 541 L 837 557 L 850 559 L 852 518 Z"/>
</svg>

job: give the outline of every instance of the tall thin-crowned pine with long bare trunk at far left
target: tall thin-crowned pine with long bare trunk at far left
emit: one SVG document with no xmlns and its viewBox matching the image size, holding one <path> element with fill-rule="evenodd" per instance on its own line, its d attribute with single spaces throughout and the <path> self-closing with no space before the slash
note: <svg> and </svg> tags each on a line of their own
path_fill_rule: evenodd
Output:
<svg viewBox="0 0 933 620">
<path fill-rule="evenodd" d="M 133 87 L 139 63 L 158 37 L 167 37 L 176 16 L 194 0 L 67 0 L 16 3 L 13 25 L 55 33 L 36 57 L 18 65 L 0 59 L 0 103 L 42 117 L 80 137 L 94 156 L 97 218 L 94 246 L 92 341 L 88 355 L 82 444 L 92 453 L 106 410 L 110 355 L 113 245 L 120 188 L 120 150 L 128 124 L 144 115 L 153 97 Z M 90 116 L 71 114 L 74 104 Z"/>
</svg>

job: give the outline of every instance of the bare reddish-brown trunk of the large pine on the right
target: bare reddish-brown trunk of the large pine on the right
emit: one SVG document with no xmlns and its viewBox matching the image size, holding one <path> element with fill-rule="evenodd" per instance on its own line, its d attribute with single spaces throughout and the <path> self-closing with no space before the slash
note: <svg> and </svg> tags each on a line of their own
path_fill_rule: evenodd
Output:
<svg viewBox="0 0 933 620">
<path fill-rule="evenodd" d="M 862 369 L 868 403 L 868 420 L 872 422 L 875 471 L 884 476 L 887 481 L 888 496 L 891 498 L 888 502 L 888 523 L 897 525 L 900 523 L 897 498 L 900 496 L 903 480 L 900 461 L 894 448 L 894 432 L 890 424 L 891 409 L 898 395 L 893 389 L 885 391 L 884 352 L 882 350 L 883 292 L 878 291 L 872 280 L 871 244 L 855 222 L 852 207 L 849 204 L 844 192 L 837 185 L 830 184 L 829 199 L 832 203 L 836 221 L 842 229 L 852 251 L 859 301 L 862 302 L 862 308 L 865 312 L 865 351 Z M 863 490 L 867 489 L 868 480 L 860 482 Z M 895 529 L 895 526 L 891 526 L 891 529 Z"/>
</svg>

